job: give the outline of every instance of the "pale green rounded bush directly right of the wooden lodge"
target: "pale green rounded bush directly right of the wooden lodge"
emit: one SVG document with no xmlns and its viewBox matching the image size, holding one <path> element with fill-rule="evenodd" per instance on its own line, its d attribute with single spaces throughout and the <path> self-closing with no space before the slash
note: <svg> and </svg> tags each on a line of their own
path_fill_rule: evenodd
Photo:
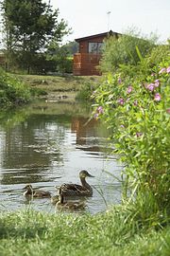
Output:
<svg viewBox="0 0 170 256">
<path fill-rule="evenodd" d="M 136 65 L 140 62 L 139 49 L 144 57 L 155 46 L 156 38 L 147 39 L 137 31 L 127 31 L 119 38 L 110 37 L 105 42 L 105 49 L 100 63 L 103 72 L 114 71 L 121 64 Z"/>
</svg>

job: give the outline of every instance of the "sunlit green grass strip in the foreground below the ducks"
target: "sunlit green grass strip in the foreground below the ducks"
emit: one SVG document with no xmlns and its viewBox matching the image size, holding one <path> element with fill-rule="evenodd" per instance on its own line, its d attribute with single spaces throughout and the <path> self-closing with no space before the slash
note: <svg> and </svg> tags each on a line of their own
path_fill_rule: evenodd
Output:
<svg viewBox="0 0 170 256">
<path fill-rule="evenodd" d="M 139 229 L 127 210 L 91 215 L 0 215 L 0 255 L 169 255 L 170 229 Z"/>
</svg>

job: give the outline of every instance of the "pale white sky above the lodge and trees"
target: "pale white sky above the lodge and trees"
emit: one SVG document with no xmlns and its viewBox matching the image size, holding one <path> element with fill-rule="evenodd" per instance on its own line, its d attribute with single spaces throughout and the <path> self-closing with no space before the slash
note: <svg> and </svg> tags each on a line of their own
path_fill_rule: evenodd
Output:
<svg viewBox="0 0 170 256">
<path fill-rule="evenodd" d="M 156 33 L 161 43 L 170 38 L 170 0 L 51 0 L 51 6 L 72 28 L 68 42 L 110 29 L 124 33 L 131 27 L 148 36 Z"/>
</svg>

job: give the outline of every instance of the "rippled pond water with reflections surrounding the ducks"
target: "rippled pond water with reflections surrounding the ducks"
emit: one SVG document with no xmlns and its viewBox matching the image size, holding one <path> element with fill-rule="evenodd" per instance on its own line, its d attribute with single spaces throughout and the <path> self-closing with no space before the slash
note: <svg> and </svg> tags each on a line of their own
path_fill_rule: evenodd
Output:
<svg viewBox="0 0 170 256">
<path fill-rule="evenodd" d="M 120 202 L 122 166 L 108 155 L 104 124 L 90 116 L 79 103 L 44 101 L 0 113 L 1 211 L 57 211 L 48 198 L 27 201 L 23 188 L 31 183 L 55 195 L 55 186 L 79 184 L 81 170 L 94 175 L 87 180 L 93 197 L 86 199 L 86 211 L 94 214 Z"/>
</svg>

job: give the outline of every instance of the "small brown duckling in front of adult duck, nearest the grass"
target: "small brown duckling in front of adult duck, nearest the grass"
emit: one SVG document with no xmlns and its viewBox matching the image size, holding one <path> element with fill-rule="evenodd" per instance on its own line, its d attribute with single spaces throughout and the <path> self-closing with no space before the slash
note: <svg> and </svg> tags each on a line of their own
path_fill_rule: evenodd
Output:
<svg viewBox="0 0 170 256">
<path fill-rule="evenodd" d="M 80 201 L 64 201 L 64 196 L 62 192 L 60 192 L 59 202 L 56 204 L 56 207 L 65 210 L 83 210 L 85 208 L 85 203 Z"/>
</svg>

